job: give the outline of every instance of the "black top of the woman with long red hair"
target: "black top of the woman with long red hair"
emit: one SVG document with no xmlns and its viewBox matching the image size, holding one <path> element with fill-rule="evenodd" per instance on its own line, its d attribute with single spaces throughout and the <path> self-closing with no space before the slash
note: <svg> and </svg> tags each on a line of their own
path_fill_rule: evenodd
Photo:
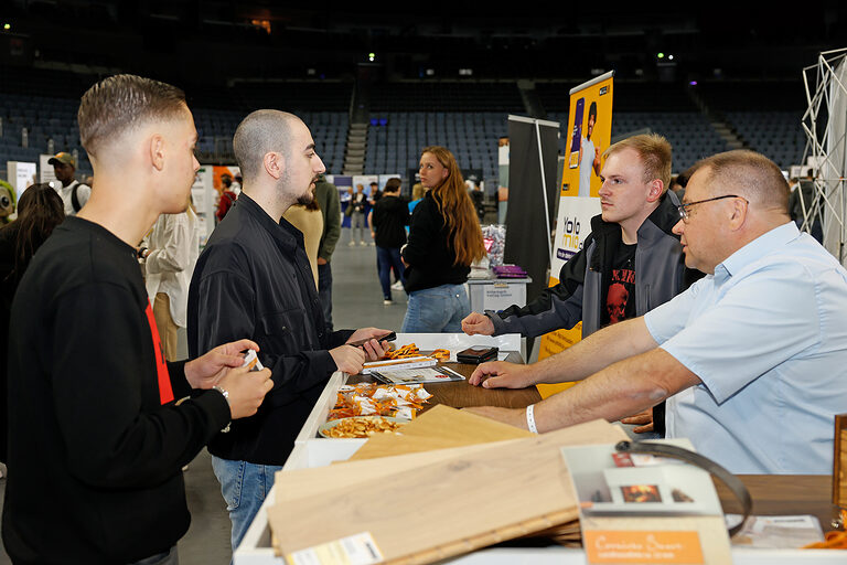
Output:
<svg viewBox="0 0 847 565">
<path fill-rule="evenodd" d="M 405 274 L 408 292 L 468 281 L 471 267 L 454 265 L 455 252 L 432 191 L 427 192 L 411 213 L 409 242 L 403 248 L 403 258 L 408 264 Z"/>
</svg>

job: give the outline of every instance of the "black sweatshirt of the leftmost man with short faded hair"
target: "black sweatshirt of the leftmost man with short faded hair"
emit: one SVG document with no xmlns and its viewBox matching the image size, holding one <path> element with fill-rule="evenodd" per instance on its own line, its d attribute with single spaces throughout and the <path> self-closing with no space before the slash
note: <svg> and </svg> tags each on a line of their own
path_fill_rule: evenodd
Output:
<svg viewBox="0 0 847 565">
<path fill-rule="evenodd" d="M 9 343 L 15 564 L 130 563 L 187 531 L 181 468 L 229 407 L 214 391 L 161 405 L 149 306 L 136 250 L 86 220 L 66 218 L 26 269 Z M 183 363 L 168 370 L 175 398 L 191 394 Z"/>
</svg>

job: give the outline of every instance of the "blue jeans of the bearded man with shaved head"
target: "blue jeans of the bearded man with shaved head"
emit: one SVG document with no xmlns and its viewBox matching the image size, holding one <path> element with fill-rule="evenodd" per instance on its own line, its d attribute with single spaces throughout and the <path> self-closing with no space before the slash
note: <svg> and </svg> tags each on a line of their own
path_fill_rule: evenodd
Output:
<svg viewBox="0 0 847 565">
<path fill-rule="evenodd" d="M 232 461 L 212 456 L 212 469 L 221 483 L 221 494 L 224 495 L 229 521 L 233 523 L 232 543 L 235 551 L 274 486 L 275 473 L 282 467 Z"/>
</svg>

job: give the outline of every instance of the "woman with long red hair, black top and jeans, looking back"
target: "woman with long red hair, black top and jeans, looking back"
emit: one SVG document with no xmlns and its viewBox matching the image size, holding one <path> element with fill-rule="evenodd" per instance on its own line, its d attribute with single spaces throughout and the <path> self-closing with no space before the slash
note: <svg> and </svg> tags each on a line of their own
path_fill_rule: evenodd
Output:
<svg viewBox="0 0 847 565">
<path fill-rule="evenodd" d="M 424 149 L 420 182 L 430 190 L 411 214 L 400 252 L 409 294 L 401 331 L 459 332 L 471 312 L 464 282 L 471 264 L 485 256 L 482 230 L 449 149 Z"/>
</svg>

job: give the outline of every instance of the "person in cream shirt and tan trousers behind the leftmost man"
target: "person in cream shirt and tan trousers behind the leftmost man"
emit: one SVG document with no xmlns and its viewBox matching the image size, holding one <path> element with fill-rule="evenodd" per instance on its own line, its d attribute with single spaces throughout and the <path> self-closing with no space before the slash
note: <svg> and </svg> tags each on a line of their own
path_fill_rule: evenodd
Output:
<svg viewBox="0 0 847 565">
<path fill-rule="evenodd" d="M 189 285 L 200 255 L 197 214 L 191 200 L 185 202 L 184 212 L 160 215 L 146 242 L 149 247 L 142 244 L 138 258 L 144 266 L 147 295 L 153 305 L 164 359 L 175 361 L 176 332 L 186 326 Z"/>
</svg>

